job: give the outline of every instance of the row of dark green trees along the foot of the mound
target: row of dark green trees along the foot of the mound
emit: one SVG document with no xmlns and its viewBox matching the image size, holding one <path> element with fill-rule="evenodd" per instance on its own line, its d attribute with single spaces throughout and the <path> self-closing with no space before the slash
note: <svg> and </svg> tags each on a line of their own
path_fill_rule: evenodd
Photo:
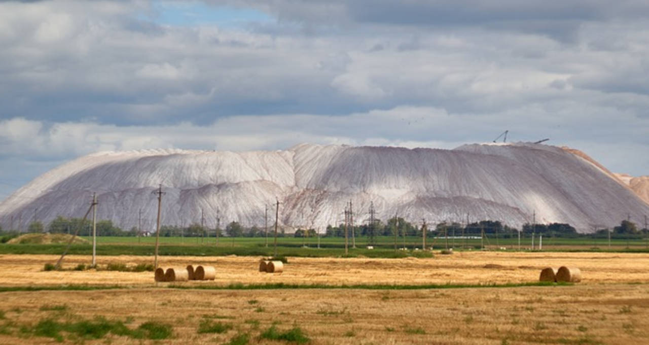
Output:
<svg viewBox="0 0 649 345">
<path fill-rule="evenodd" d="M 151 235 L 153 231 L 140 233 L 137 227 L 132 227 L 129 230 L 123 230 L 117 227 L 111 220 L 98 220 L 97 221 L 97 235 L 99 236 L 138 236 L 138 235 Z M 64 218 L 62 216 L 56 217 L 54 220 L 47 224 L 47 227 L 42 222 L 31 222 L 27 228 L 29 233 L 67 233 L 73 234 L 79 229 L 80 236 L 92 236 L 92 222 L 82 218 Z M 530 236 L 543 235 L 548 237 L 563 237 L 563 238 L 578 238 L 578 237 L 593 237 L 606 238 L 643 238 L 649 235 L 648 229 L 640 229 L 637 224 L 628 220 L 622 220 L 620 225 L 613 227 L 613 229 L 596 229 L 594 233 L 580 234 L 570 224 L 552 223 L 552 224 L 524 224 L 522 225 L 521 235 Z M 417 226 L 404 220 L 401 217 L 389 218 L 387 222 L 375 220 L 374 224 L 361 224 L 347 226 L 349 236 L 352 231 L 355 236 L 366 236 L 373 242 L 376 236 L 422 236 L 423 231 L 426 231 L 426 236 L 500 236 L 502 238 L 513 238 L 518 236 L 519 229 L 503 225 L 500 221 L 482 220 L 480 222 L 473 222 L 467 225 L 459 224 L 458 222 L 441 222 L 435 224 L 434 227 L 428 225 Z M 0 227 L 0 234 L 16 233 L 14 230 L 3 231 Z M 186 237 L 203 237 L 203 236 L 235 236 L 235 237 L 263 237 L 265 236 L 265 229 L 263 227 L 243 227 L 239 222 L 230 222 L 226 225 L 225 229 L 214 229 L 204 227 L 201 224 L 193 223 L 186 227 L 178 225 L 162 225 L 160 227 L 160 236 L 186 236 Z M 610 234 L 609 234 L 610 233 Z M 274 231 L 269 227 L 269 236 L 273 236 Z M 293 234 L 286 234 L 285 229 L 278 229 L 278 236 L 291 236 L 291 237 L 313 237 L 317 236 L 315 229 L 297 229 Z M 337 226 L 328 225 L 323 236 L 330 237 L 344 237 L 345 224 Z"/>
</svg>

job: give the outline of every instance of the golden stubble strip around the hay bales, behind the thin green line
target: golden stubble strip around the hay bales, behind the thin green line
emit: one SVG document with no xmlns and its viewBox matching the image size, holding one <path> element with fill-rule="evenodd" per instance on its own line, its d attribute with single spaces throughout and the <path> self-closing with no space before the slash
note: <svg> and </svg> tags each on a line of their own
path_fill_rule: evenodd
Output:
<svg viewBox="0 0 649 345">
<path fill-rule="evenodd" d="M 128 285 L 154 286 L 153 272 L 106 270 L 43 271 L 55 255 L 0 255 L 0 286 L 20 285 Z M 89 256 L 66 257 L 64 268 L 88 264 Z M 121 263 L 134 266 L 151 263 L 152 257 L 103 256 L 99 266 Z M 281 274 L 259 272 L 258 257 L 160 257 L 160 267 L 188 264 L 215 266 L 214 281 L 181 284 L 229 285 L 232 283 L 291 284 L 486 284 L 538 281 L 545 267 L 580 268 L 580 285 L 602 283 L 649 283 L 649 254 L 644 253 L 505 253 L 458 252 L 435 255 L 432 259 L 365 259 L 290 257 Z"/>
</svg>

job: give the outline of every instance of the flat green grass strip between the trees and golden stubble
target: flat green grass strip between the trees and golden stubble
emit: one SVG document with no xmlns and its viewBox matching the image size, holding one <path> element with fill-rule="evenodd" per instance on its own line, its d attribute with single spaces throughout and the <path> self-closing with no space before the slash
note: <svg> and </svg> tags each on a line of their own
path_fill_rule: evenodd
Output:
<svg viewBox="0 0 649 345">
<path fill-rule="evenodd" d="M 92 242 L 92 237 L 84 236 Z M 538 238 L 536 239 L 538 241 Z M 318 248 L 317 238 L 277 238 L 277 255 L 294 257 L 341 257 L 345 255 L 345 238 L 322 237 Z M 379 236 L 376 238 L 374 249 L 366 249 L 368 238 L 356 238 L 356 248 L 352 248 L 349 241 L 349 256 L 363 255 L 365 257 L 426 257 L 430 252 L 421 250 L 422 240 L 419 237 L 406 237 L 397 239 L 397 248 L 408 250 L 395 251 L 395 238 L 392 236 Z M 155 237 L 119 237 L 98 236 L 98 255 L 153 255 Z M 218 244 L 214 237 L 160 237 L 160 255 L 274 255 L 273 238 L 268 239 L 268 246 L 263 237 L 221 237 Z M 405 244 L 405 246 L 404 246 Z M 480 250 L 484 244 L 490 250 L 518 250 L 518 238 L 428 238 L 426 246 L 434 249 L 454 248 L 455 250 Z M 649 242 L 646 240 L 608 240 L 593 238 L 544 238 L 544 251 L 649 251 Z M 63 244 L 0 244 L 0 253 L 5 254 L 60 254 L 64 250 Z M 531 238 L 521 239 L 521 250 L 532 248 Z M 538 242 L 535 243 L 538 250 Z M 92 251 L 90 244 L 77 244 L 70 248 L 70 254 L 85 255 Z"/>
</svg>

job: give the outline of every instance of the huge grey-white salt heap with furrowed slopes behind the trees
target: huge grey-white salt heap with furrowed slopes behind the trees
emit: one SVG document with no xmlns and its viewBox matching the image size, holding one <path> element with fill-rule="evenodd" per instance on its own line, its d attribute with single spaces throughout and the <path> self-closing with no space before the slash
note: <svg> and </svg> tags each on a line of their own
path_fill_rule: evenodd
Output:
<svg viewBox="0 0 649 345">
<path fill-rule="evenodd" d="M 59 166 L 0 204 L 0 222 L 26 229 L 36 218 L 82 217 L 97 192 L 98 219 L 153 230 L 162 184 L 162 224 L 238 221 L 287 231 L 343 222 L 347 201 L 356 224 L 398 214 L 421 225 L 500 220 L 569 223 L 580 232 L 628 216 L 641 223 L 649 205 L 577 150 L 539 144 L 471 144 L 445 149 L 300 144 L 286 151 L 142 150 L 95 153 Z M 34 211 L 36 212 L 34 214 Z M 21 224 L 19 223 L 21 221 Z"/>
</svg>

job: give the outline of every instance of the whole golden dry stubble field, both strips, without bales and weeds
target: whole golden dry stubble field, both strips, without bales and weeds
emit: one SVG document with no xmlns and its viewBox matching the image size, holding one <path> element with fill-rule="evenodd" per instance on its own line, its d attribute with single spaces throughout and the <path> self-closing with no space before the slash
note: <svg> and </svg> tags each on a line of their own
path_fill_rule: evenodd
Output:
<svg viewBox="0 0 649 345">
<path fill-rule="evenodd" d="M 55 342 L 21 333 L 39 320 L 93 320 L 103 316 L 136 327 L 155 321 L 173 326 L 173 337 L 144 343 L 219 344 L 246 334 L 261 339 L 300 327 L 313 344 L 628 344 L 649 337 L 649 255 L 625 253 L 494 253 L 436 255 L 434 259 L 289 258 L 283 274 L 256 272 L 254 257 L 162 257 L 162 266 L 214 264 L 217 280 L 230 283 L 445 284 L 536 281 L 545 266 L 582 268 L 574 286 L 422 290 L 295 289 L 179 290 L 153 283 L 153 274 L 42 272 L 47 255 L 3 255 L 0 285 L 123 285 L 119 290 L 1 292 L 0 343 Z M 147 257 L 99 257 L 99 264 L 136 264 Z M 68 266 L 88 262 L 69 257 Z M 201 322 L 221 322 L 224 333 L 198 333 Z M 6 326 L 10 325 L 10 326 Z M 3 332 L 5 329 L 5 332 Z M 8 334 L 2 334 L 8 333 Z M 62 333 L 66 334 L 66 333 Z M 64 341 L 79 342 L 69 337 Z M 127 344 L 105 335 L 86 343 Z"/>
</svg>

